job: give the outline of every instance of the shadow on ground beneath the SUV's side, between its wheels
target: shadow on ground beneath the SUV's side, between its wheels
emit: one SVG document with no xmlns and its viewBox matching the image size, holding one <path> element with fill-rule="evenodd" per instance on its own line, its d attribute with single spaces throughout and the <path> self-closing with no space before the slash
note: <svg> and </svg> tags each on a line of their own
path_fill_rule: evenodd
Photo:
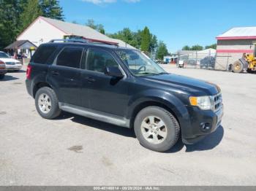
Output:
<svg viewBox="0 0 256 191">
<path fill-rule="evenodd" d="M 64 120 L 64 119 L 69 119 L 69 118 L 70 118 L 70 120 L 72 120 L 72 122 L 76 122 L 81 125 L 86 125 L 86 126 L 89 126 L 90 128 L 97 128 L 100 130 L 108 131 L 110 133 L 116 133 L 121 136 L 136 138 L 134 130 L 132 130 L 130 128 L 123 128 L 123 127 L 120 127 L 117 125 L 111 125 L 107 122 L 92 120 L 90 118 L 79 116 L 76 114 L 62 112 L 61 115 L 56 118 L 56 120 Z"/>
</svg>

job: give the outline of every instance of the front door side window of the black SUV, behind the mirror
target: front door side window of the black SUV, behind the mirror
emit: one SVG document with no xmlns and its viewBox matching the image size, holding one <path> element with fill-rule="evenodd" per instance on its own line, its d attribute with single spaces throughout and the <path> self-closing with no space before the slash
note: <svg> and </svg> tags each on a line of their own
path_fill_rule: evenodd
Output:
<svg viewBox="0 0 256 191">
<path fill-rule="evenodd" d="M 115 59 L 108 52 L 102 50 L 89 50 L 86 69 L 91 71 L 104 72 L 106 66 L 116 66 Z"/>
</svg>

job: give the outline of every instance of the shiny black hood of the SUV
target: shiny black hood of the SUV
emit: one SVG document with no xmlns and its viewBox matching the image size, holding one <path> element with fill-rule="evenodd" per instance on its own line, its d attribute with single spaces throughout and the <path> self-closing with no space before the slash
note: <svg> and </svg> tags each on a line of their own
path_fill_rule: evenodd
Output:
<svg viewBox="0 0 256 191">
<path fill-rule="evenodd" d="M 200 79 L 184 77 L 177 74 L 147 76 L 144 77 L 144 79 L 170 85 L 172 87 L 176 87 L 178 90 L 184 90 L 195 96 L 215 95 L 220 91 L 219 87 L 211 82 L 205 82 Z"/>
</svg>

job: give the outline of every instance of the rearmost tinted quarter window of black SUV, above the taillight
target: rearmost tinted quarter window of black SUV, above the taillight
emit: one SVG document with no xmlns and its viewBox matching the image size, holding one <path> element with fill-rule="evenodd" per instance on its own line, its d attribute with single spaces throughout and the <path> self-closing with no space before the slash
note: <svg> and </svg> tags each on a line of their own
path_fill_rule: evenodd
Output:
<svg viewBox="0 0 256 191">
<path fill-rule="evenodd" d="M 53 52 L 57 49 L 57 45 L 41 45 L 38 47 L 37 51 L 34 52 L 31 62 L 45 64 Z"/>
</svg>

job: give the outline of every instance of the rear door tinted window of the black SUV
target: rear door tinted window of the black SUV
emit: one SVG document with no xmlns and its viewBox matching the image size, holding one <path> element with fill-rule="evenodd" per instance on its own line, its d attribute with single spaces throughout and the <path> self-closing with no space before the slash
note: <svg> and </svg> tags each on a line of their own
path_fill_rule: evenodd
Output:
<svg viewBox="0 0 256 191">
<path fill-rule="evenodd" d="M 57 59 L 57 65 L 80 69 L 83 48 L 65 47 Z"/>
</svg>

